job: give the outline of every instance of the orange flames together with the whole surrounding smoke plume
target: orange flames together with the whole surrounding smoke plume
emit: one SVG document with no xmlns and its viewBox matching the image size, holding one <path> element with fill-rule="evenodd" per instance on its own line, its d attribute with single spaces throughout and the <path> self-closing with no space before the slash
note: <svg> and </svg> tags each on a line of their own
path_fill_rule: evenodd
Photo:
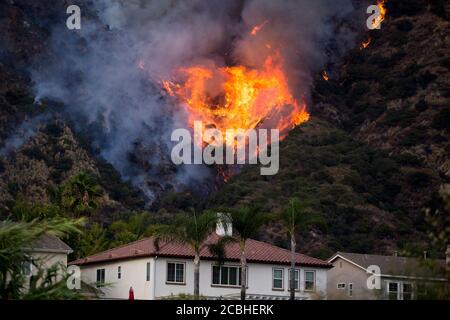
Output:
<svg viewBox="0 0 450 320">
<path fill-rule="evenodd" d="M 217 170 L 171 162 L 171 133 L 202 121 L 283 138 L 308 121 L 314 75 L 354 45 L 342 26 L 355 7 L 338 2 L 96 1 L 79 32 L 49 33 L 48 63 L 33 70 L 37 100 L 64 103 L 149 202 L 166 185 L 211 190 Z"/>
</svg>

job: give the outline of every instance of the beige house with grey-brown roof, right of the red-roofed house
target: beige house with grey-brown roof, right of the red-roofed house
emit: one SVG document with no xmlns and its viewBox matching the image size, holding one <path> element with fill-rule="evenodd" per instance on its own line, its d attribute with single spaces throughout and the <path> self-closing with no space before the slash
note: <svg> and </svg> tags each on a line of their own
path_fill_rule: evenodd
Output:
<svg viewBox="0 0 450 320">
<path fill-rule="evenodd" d="M 424 290 L 429 285 L 447 285 L 445 260 L 429 260 L 437 269 L 433 272 L 419 259 L 396 255 L 337 252 L 328 262 L 333 264 L 328 271 L 329 299 L 413 300 L 426 294 Z M 373 266 L 378 266 L 379 271 Z M 370 289 L 376 286 L 376 279 L 379 279 L 379 288 Z"/>
</svg>

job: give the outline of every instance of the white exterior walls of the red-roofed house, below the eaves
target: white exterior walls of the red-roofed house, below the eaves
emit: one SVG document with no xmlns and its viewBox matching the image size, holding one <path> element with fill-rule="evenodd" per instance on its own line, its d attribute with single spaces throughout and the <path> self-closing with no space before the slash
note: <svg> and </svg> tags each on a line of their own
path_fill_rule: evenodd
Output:
<svg viewBox="0 0 450 320">
<path fill-rule="evenodd" d="M 150 281 L 146 282 L 146 263 L 150 262 Z M 185 264 L 185 283 L 168 284 L 167 263 L 178 262 Z M 222 297 L 239 299 L 240 287 L 217 286 L 212 284 L 213 261 L 203 260 L 200 263 L 200 294 L 205 297 Z M 122 266 L 122 279 L 117 279 L 117 267 Z M 239 266 L 239 263 L 225 263 L 225 265 Z M 96 282 L 96 271 L 105 268 L 105 282 L 110 286 L 104 290 L 106 298 L 128 299 L 128 290 L 133 287 L 135 299 L 161 299 L 178 296 L 180 294 L 193 294 L 194 292 L 194 263 L 192 259 L 177 258 L 146 258 L 119 261 L 107 264 L 82 266 L 82 279 L 88 283 Z M 284 289 L 272 289 L 273 268 L 284 270 Z M 318 299 L 326 297 L 327 269 L 299 268 L 300 291 L 299 298 Z M 304 291 L 304 271 L 316 272 L 316 291 Z M 249 295 L 289 296 L 289 266 L 271 264 L 248 264 L 248 288 Z"/>
</svg>

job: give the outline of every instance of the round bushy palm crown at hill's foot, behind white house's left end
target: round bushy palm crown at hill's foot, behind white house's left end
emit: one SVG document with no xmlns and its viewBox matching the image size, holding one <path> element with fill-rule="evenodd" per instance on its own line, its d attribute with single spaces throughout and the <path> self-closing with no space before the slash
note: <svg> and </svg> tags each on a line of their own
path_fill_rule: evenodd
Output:
<svg viewBox="0 0 450 320">
<path fill-rule="evenodd" d="M 101 194 L 96 179 L 86 172 L 81 172 L 62 186 L 61 206 L 75 216 L 90 214 L 98 208 Z"/>
</svg>

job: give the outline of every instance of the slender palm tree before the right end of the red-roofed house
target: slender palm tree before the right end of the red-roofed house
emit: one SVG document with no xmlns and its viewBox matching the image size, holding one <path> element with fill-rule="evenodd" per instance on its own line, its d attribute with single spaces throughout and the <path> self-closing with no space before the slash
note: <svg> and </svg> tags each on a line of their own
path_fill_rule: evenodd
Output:
<svg viewBox="0 0 450 320">
<path fill-rule="evenodd" d="M 295 241 L 295 233 L 298 227 L 305 221 L 305 208 L 306 205 L 300 202 L 298 198 L 292 198 L 289 200 L 287 208 L 281 213 L 281 220 L 284 224 L 285 232 L 291 240 L 291 270 L 289 281 L 291 300 L 295 300 L 295 251 L 297 246 Z"/>
</svg>

